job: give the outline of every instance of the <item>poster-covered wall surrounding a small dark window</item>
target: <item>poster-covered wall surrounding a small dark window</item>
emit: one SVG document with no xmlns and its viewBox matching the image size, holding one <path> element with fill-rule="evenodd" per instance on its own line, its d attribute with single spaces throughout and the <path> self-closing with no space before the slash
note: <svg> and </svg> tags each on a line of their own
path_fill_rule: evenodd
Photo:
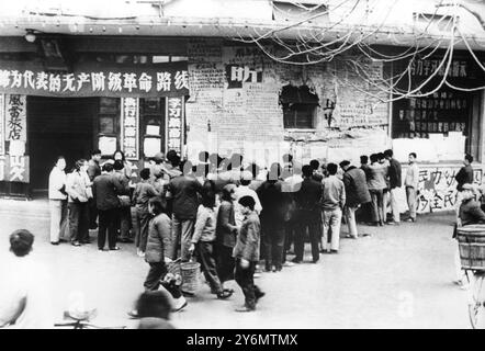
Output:
<svg viewBox="0 0 485 351">
<path fill-rule="evenodd" d="M 330 64 L 284 65 L 256 46 L 217 39 L 191 42 L 188 55 L 185 109 L 192 157 L 202 149 L 223 155 L 245 150 L 248 159 L 268 165 L 287 150 L 304 158 L 353 159 L 356 148 L 374 149 L 379 144 L 382 150 L 388 145 L 388 105 L 376 99 L 385 97 L 374 88 L 376 98 L 369 98 L 364 91 L 373 88 L 349 68 L 358 63 L 365 67 L 368 81 L 379 81 L 381 64 L 349 56 Z M 280 93 L 287 86 L 308 87 L 309 94 L 318 97 L 312 128 L 284 127 Z"/>
</svg>

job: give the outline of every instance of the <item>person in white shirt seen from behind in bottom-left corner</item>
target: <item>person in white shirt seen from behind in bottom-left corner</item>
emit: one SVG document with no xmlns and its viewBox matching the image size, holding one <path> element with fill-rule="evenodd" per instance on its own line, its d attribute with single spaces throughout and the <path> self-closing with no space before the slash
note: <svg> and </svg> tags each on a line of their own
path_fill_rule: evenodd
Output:
<svg viewBox="0 0 485 351">
<path fill-rule="evenodd" d="M 30 256 L 33 242 L 26 229 L 10 235 L 13 256 L 0 265 L 0 328 L 54 328 L 52 283 L 47 270 Z"/>
</svg>

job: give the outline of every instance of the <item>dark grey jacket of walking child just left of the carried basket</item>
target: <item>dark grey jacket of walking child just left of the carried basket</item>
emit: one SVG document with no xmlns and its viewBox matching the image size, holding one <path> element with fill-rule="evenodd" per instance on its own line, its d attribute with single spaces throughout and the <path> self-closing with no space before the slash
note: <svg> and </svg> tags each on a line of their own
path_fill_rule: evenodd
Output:
<svg viewBox="0 0 485 351">
<path fill-rule="evenodd" d="M 165 261 L 165 256 L 171 249 L 171 220 L 165 214 L 154 217 L 148 225 L 147 248 L 145 261 L 158 263 Z"/>
</svg>

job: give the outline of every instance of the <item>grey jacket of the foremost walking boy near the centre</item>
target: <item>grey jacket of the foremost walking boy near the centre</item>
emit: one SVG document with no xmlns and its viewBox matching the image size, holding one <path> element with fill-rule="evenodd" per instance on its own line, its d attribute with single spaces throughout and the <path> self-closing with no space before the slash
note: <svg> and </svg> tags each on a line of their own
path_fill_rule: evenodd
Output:
<svg viewBox="0 0 485 351">
<path fill-rule="evenodd" d="M 258 215 L 252 212 L 243 222 L 240 233 L 237 236 L 233 257 L 245 259 L 249 262 L 259 261 L 259 241 L 261 235 L 261 225 Z"/>
</svg>

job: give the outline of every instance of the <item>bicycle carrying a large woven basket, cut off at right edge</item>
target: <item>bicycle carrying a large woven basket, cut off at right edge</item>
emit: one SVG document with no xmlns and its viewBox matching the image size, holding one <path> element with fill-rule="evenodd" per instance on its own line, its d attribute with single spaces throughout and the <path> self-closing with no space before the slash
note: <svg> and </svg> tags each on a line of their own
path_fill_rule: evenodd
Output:
<svg viewBox="0 0 485 351">
<path fill-rule="evenodd" d="M 473 329 L 485 328 L 485 226 L 456 228 L 462 269 L 469 283 L 469 317 Z"/>
</svg>

